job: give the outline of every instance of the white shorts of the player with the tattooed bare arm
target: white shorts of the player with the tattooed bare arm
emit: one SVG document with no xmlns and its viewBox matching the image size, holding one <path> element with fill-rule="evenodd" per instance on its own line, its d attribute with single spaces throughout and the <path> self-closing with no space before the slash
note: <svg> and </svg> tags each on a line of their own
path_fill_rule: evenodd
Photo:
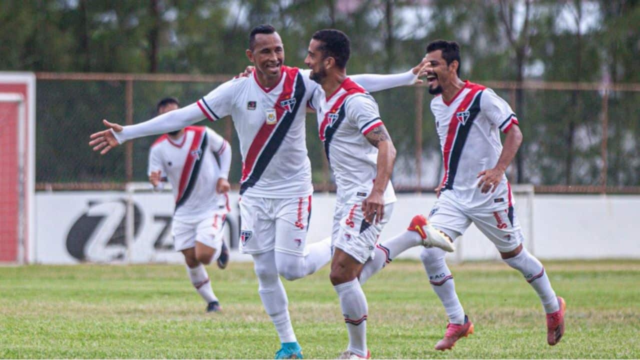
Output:
<svg viewBox="0 0 640 360">
<path fill-rule="evenodd" d="M 361 264 L 373 258 L 380 233 L 394 211 L 394 203 L 386 204 L 384 218 L 380 224 L 369 224 L 364 221 L 362 213 L 364 199 L 353 195 L 346 202 L 336 202 L 331 235 L 334 247 L 351 255 Z"/>
</svg>

